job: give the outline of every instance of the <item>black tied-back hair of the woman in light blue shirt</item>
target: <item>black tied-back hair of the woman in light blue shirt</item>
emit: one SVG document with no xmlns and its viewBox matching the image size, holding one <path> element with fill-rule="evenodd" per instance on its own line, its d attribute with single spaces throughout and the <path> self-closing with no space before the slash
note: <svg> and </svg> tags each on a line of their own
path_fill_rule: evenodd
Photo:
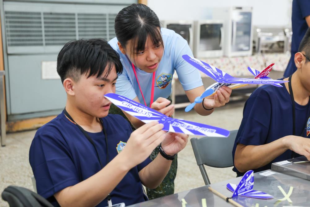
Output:
<svg viewBox="0 0 310 207">
<path fill-rule="evenodd" d="M 123 8 L 115 18 L 117 40 L 123 47 L 126 47 L 128 40 L 132 40 L 132 54 L 145 50 L 148 36 L 155 46 L 164 47 L 160 28 L 155 12 L 144 4 L 131 4 Z"/>
</svg>

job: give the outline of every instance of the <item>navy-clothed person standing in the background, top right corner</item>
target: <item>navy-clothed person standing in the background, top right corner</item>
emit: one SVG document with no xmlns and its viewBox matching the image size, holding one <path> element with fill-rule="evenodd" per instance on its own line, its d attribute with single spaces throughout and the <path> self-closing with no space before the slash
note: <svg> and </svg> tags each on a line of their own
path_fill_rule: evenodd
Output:
<svg viewBox="0 0 310 207">
<path fill-rule="evenodd" d="M 292 3 L 292 45 L 290 61 L 284 71 L 284 77 L 289 77 L 297 68 L 295 66 L 294 57 L 298 52 L 299 43 L 310 27 L 310 1 L 309 0 L 293 0 Z"/>
</svg>

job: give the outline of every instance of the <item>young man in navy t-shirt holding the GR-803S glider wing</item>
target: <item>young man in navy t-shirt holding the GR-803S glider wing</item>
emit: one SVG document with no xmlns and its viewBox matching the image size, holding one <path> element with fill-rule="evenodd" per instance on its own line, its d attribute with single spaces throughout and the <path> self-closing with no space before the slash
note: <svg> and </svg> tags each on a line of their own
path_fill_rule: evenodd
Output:
<svg viewBox="0 0 310 207">
<path fill-rule="evenodd" d="M 188 135 L 166 133 L 150 122 L 132 132 L 120 115 L 108 115 L 122 73 L 118 54 L 105 40 L 75 40 L 57 58 L 67 102 L 38 129 L 29 151 L 37 191 L 54 206 L 131 205 L 147 200 L 142 184 L 157 187 Z M 161 153 L 148 157 L 161 144 Z"/>
</svg>

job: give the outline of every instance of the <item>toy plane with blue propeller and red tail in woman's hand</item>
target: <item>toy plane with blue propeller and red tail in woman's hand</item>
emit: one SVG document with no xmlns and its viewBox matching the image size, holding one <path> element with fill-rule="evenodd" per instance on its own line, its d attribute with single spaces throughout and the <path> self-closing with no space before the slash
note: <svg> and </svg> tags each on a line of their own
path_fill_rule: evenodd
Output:
<svg viewBox="0 0 310 207">
<path fill-rule="evenodd" d="M 277 87 L 282 87 L 280 83 L 288 82 L 285 80 L 273 80 L 267 75 L 270 73 L 272 70 L 272 66 L 274 63 L 269 65 L 267 68 L 265 68 L 262 72 L 259 72 L 258 70 L 252 69 L 248 67 L 248 70 L 255 75 L 254 79 L 247 79 L 247 78 L 235 78 L 232 77 L 231 75 L 225 73 L 222 70 L 219 70 L 218 68 L 209 65 L 208 63 L 205 63 L 203 61 L 200 61 L 194 57 L 188 56 L 188 55 L 183 55 L 182 56 L 185 61 L 187 61 L 189 64 L 193 65 L 195 68 L 200 70 L 201 72 L 205 73 L 208 75 L 210 78 L 214 79 L 216 83 L 212 84 L 209 86 L 207 90 L 212 89 L 214 92 L 216 92 L 220 87 L 222 86 L 228 86 L 229 88 L 239 88 L 242 86 L 245 86 L 247 84 L 272 84 Z M 235 85 L 232 85 L 236 83 Z M 210 94 L 213 95 L 214 93 Z M 185 108 L 185 111 L 188 112 L 193 109 L 196 103 L 201 103 L 202 99 L 205 98 L 204 94 L 202 94 L 199 99 L 198 97 L 195 99 L 193 103 L 188 105 Z"/>
</svg>

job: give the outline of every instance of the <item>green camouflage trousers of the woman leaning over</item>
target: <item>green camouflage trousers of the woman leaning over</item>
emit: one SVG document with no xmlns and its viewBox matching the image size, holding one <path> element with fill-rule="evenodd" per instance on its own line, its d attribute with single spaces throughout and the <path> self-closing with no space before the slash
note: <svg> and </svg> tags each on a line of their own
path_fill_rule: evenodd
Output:
<svg viewBox="0 0 310 207">
<path fill-rule="evenodd" d="M 169 101 L 171 101 L 170 97 L 168 97 L 167 99 Z M 122 115 L 129 122 L 129 124 L 131 125 L 132 131 L 135 130 L 135 128 L 132 126 L 132 124 L 127 119 L 127 117 L 122 112 L 122 110 L 120 110 L 114 104 L 111 104 L 110 110 L 109 110 L 109 114 L 119 114 L 119 115 Z M 152 152 L 152 154 L 150 155 L 150 159 L 154 160 L 158 153 L 159 153 L 159 146 L 157 146 L 155 148 L 155 150 Z M 157 188 L 155 188 L 155 189 L 146 188 L 148 199 L 151 200 L 151 199 L 154 199 L 154 198 L 159 198 L 159 197 L 162 197 L 162 196 L 168 196 L 170 194 L 174 194 L 174 180 L 175 180 L 175 176 L 176 176 L 176 171 L 178 169 L 178 159 L 177 158 L 178 158 L 178 156 L 175 155 L 175 159 L 172 161 L 170 169 L 169 169 L 166 177 L 164 178 L 162 183 Z"/>
</svg>

